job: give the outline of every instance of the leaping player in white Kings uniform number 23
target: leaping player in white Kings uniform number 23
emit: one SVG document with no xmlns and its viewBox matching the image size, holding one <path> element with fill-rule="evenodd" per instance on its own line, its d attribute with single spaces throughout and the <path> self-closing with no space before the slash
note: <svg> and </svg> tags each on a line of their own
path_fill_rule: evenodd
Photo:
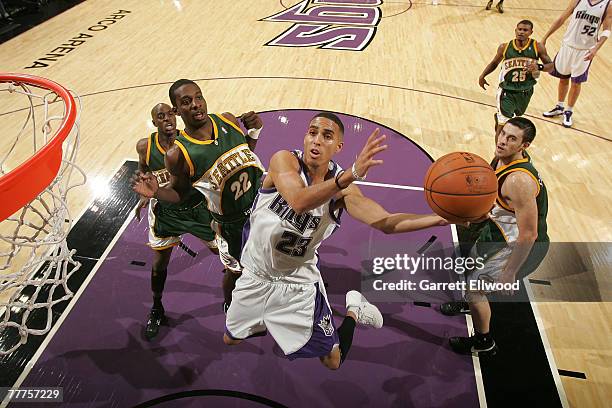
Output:
<svg viewBox="0 0 612 408">
<path fill-rule="evenodd" d="M 303 153 L 282 150 L 272 156 L 243 232 L 244 269 L 227 311 L 226 344 L 269 331 L 289 359 L 318 357 L 335 370 L 346 358 L 356 322 L 382 327 L 378 308 L 353 290 L 346 294 L 346 317 L 336 330 L 317 248 L 339 226 L 343 209 L 385 233 L 448 222 L 435 214 L 389 214 L 352 184 L 382 164 L 374 159 L 387 148 L 378 133 L 344 171 L 331 160 L 342 149 L 344 126 L 333 113 L 322 112 L 310 122 Z"/>
</svg>

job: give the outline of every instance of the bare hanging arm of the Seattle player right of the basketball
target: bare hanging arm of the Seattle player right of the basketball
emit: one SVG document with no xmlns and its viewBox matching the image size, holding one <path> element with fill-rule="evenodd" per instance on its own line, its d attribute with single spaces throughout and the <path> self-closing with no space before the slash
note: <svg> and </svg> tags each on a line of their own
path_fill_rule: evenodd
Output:
<svg viewBox="0 0 612 408">
<path fill-rule="evenodd" d="M 516 214 L 519 230 L 518 238 L 501 276 L 501 281 L 507 283 L 514 282 L 538 237 L 538 206 L 536 203 L 538 185 L 528 174 L 514 172 L 508 175 L 501 193 Z"/>
</svg>

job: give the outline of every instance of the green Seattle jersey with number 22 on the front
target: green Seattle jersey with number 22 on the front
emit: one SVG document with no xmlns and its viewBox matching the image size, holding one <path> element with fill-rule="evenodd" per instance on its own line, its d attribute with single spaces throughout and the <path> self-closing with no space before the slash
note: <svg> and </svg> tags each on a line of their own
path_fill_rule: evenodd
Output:
<svg viewBox="0 0 612 408">
<path fill-rule="evenodd" d="M 206 197 L 213 217 L 243 216 L 255 200 L 263 166 L 236 124 L 220 114 L 208 116 L 213 126 L 210 140 L 194 139 L 181 131 L 175 144 L 185 156 L 192 185 Z"/>
</svg>

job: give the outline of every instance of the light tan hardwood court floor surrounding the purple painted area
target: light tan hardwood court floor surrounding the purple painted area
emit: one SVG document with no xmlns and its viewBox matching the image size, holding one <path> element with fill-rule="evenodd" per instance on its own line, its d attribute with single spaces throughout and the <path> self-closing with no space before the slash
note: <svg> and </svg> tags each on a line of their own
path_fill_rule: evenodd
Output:
<svg viewBox="0 0 612 408">
<path fill-rule="evenodd" d="M 266 46 L 282 42 L 294 23 L 262 19 L 297 1 L 85 2 L 0 45 L 1 69 L 51 78 L 83 98 L 79 164 L 89 182 L 70 197 L 73 214 L 125 158 L 136 157 L 136 141 L 151 131 L 151 107 L 167 101 L 178 78 L 198 80 L 209 112 L 326 109 L 396 129 L 433 157 L 456 150 L 490 157 L 495 86 L 481 90 L 478 76 L 519 20 L 533 21 L 539 39 L 565 2 L 507 0 L 504 14 L 485 11 L 484 0 L 430 3 L 369 6 L 382 13 L 375 34 L 361 51 L 348 51 Z M 563 31 L 548 41 L 551 57 Z M 548 187 L 553 242 L 612 241 L 611 73 L 608 43 L 583 86 L 572 129 L 541 116 L 556 102 L 557 82 L 546 74 L 527 111 L 538 129 L 530 152 Z M 399 163 L 386 165 L 401 172 Z M 581 273 L 547 262 L 533 278 L 552 285 L 532 287 L 540 299 L 558 299 L 573 290 L 572 279 L 587 277 L 580 287 L 599 294 L 599 302 L 538 303 L 537 309 L 557 367 L 586 375 L 561 377 L 570 406 L 603 407 L 612 398 L 610 271 L 597 263 L 597 245 L 591 248 L 576 251 Z"/>
</svg>

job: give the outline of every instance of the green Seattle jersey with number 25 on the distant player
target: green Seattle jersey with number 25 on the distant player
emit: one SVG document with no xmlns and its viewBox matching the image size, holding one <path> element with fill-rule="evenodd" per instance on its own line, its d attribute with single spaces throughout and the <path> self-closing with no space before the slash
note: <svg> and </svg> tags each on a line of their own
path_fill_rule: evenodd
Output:
<svg viewBox="0 0 612 408">
<path fill-rule="evenodd" d="M 537 83 L 531 73 L 524 68 L 533 60 L 538 60 L 538 47 L 536 41 L 530 38 L 527 45 L 518 48 L 516 40 L 506 44 L 504 59 L 499 72 L 499 86 L 508 91 L 526 91 Z"/>
</svg>

